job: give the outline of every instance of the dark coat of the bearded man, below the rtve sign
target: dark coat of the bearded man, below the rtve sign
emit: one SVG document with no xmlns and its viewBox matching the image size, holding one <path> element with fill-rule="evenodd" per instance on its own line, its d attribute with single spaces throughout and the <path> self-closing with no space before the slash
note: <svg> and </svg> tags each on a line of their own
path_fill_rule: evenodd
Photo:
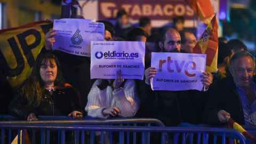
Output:
<svg viewBox="0 0 256 144">
<path fill-rule="evenodd" d="M 144 85 L 141 95 L 141 107 L 148 117 L 157 118 L 166 126 L 179 123 L 199 124 L 204 108 L 206 92 L 187 91 L 152 91 L 150 85 Z"/>
</svg>

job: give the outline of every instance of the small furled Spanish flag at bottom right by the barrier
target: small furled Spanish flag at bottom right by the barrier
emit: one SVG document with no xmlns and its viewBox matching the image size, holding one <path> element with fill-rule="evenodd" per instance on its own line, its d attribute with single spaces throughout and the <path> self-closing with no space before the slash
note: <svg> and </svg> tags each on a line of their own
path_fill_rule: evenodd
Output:
<svg viewBox="0 0 256 144">
<path fill-rule="evenodd" d="M 230 129 L 236 129 L 237 131 L 241 132 L 244 137 L 256 142 L 256 138 L 252 137 L 252 135 L 250 133 L 248 133 L 247 131 L 244 130 L 244 128 L 239 125 L 238 123 L 236 123 L 232 118 L 226 116 L 226 118 L 228 119 L 228 128 Z"/>
</svg>

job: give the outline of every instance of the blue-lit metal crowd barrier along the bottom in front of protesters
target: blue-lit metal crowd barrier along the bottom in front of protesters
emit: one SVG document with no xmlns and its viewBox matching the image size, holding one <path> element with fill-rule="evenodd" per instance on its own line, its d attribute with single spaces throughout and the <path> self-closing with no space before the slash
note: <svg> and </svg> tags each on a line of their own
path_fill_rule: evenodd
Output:
<svg viewBox="0 0 256 144">
<path fill-rule="evenodd" d="M 50 143 L 50 135 L 54 131 L 58 132 L 58 143 L 67 142 L 65 134 L 68 131 L 75 132 L 74 143 L 114 143 L 113 135 L 115 134 L 119 136 L 118 142 L 116 143 L 120 144 L 156 143 L 156 141 L 150 142 L 150 134 L 152 137 L 161 135 L 160 137 L 156 137 L 158 140 L 157 143 L 208 143 L 209 134 L 214 135 L 214 143 L 218 142 L 217 137 L 221 138 L 222 143 L 226 143 L 227 138 L 231 138 L 231 143 L 233 143 L 233 139 L 239 140 L 240 143 L 245 143 L 244 136 L 234 129 L 165 127 L 158 119 L 151 118 L 85 119 L 85 117 L 83 120 L 7 121 L 5 119 L 5 121 L 1 121 L 2 118 L 0 116 L 1 143 L 11 143 L 13 132 L 18 133 L 18 143 L 20 141 L 25 143 L 25 139 L 23 138 L 25 137 L 25 129 L 33 131 L 33 134 L 39 131 L 41 133 L 41 143 Z M 53 119 L 57 117 L 47 118 Z M 39 117 L 39 119 L 42 118 Z M 8 140 L 5 140 L 6 133 L 9 135 Z M 22 133 L 22 138 L 20 138 L 20 133 Z M 90 137 L 86 137 L 86 133 L 89 133 Z M 190 136 L 189 139 L 188 135 Z M 196 135 L 197 137 L 194 140 L 193 138 Z M 35 143 L 35 140 L 31 141 Z"/>
</svg>

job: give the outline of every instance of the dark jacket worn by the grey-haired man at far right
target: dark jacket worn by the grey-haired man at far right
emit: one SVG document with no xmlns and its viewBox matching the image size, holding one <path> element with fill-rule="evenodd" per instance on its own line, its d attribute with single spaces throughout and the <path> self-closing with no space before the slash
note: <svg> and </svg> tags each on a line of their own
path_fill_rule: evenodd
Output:
<svg viewBox="0 0 256 144">
<path fill-rule="evenodd" d="M 240 125 L 244 124 L 244 112 L 241 98 L 231 75 L 212 83 L 207 91 L 207 102 L 203 111 L 203 123 L 223 126 L 218 119 L 218 111 L 227 111 Z"/>
</svg>

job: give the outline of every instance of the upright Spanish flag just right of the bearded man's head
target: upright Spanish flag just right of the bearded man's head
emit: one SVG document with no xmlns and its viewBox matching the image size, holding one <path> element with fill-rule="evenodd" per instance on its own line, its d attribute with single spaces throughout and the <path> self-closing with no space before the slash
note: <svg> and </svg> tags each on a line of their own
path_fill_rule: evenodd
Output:
<svg viewBox="0 0 256 144">
<path fill-rule="evenodd" d="M 208 73 L 217 71 L 218 43 L 218 24 L 214 15 L 193 49 L 193 53 L 206 54 Z"/>
</svg>

